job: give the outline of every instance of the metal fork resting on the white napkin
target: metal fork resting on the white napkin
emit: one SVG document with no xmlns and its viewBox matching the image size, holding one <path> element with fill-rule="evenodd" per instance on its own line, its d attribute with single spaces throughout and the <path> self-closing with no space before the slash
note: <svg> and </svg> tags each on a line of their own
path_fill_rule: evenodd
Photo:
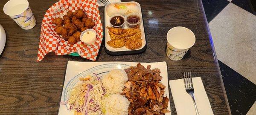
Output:
<svg viewBox="0 0 256 115">
<path fill-rule="evenodd" d="M 186 73 L 186 74 L 185 74 L 185 73 Z M 193 87 L 193 83 L 192 83 L 191 72 L 184 72 L 183 79 L 184 79 L 184 86 L 185 86 L 186 92 L 187 92 L 189 95 L 191 95 L 191 97 L 192 97 L 192 99 L 193 99 L 193 103 L 194 103 L 194 106 L 195 106 L 196 115 L 199 115 L 198 109 L 197 109 L 196 104 L 195 104 L 194 87 Z"/>
</svg>

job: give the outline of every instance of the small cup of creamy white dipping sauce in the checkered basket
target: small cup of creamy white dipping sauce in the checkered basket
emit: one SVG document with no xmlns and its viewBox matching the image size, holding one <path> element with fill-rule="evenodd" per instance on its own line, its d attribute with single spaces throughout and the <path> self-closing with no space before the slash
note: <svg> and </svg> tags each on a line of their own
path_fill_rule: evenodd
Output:
<svg viewBox="0 0 256 115">
<path fill-rule="evenodd" d="M 95 43 L 96 33 L 92 32 L 92 31 L 85 32 L 81 37 L 81 41 L 88 44 L 88 45 L 91 45 L 91 44 Z"/>
</svg>

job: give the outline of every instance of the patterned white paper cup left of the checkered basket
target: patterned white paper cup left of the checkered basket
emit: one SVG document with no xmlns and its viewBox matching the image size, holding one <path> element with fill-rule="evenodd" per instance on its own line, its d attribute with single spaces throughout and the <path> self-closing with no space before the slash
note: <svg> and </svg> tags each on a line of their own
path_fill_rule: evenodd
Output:
<svg viewBox="0 0 256 115">
<path fill-rule="evenodd" d="M 9 0 L 3 11 L 9 15 L 22 29 L 32 29 L 35 24 L 35 17 L 29 8 L 27 0 Z"/>
</svg>

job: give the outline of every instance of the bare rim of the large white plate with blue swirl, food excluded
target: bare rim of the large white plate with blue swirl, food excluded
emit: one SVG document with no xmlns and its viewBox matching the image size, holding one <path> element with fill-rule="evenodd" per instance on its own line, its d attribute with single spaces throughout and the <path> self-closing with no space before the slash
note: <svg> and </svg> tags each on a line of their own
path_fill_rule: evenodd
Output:
<svg viewBox="0 0 256 115">
<path fill-rule="evenodd" d="M 61 102 L 67 101 L 68 92 L 76 86 L 76 82 L 79 78 L 85 77 L 88 74 L 93 74 L 93 72 L 98 72 L 96 74 L 106 74 L 111 69 L 126 69 L 130 66 L 136 66 L 137 62 L 79 62 L 79 61 L 68 61 L 67 69 L 65 74 L 65 80 L 63 84 L 63 89 L 61 93 Z M 165 95 L 168 95 L 169 98 L 169 86 L 168 86 L 168 71 L 167 63 L 163 62 L 153 62 L 153 63 L 141 63 L 141 65 L 147 67 L 151 65 L 151 69 L 158 68 L 160 69 L 160 75 L 163 77 L 161 83 L 166 86 Z M 71 112 L 67 109 L 68 106 L 60 105 L 58 109 L 58 115 L 73 115 L 74 112 Z M 169 111 L 171 111 L 170 101 L 168 104 Z M 171 112 L 166 113 L 166 115 L 171 115 Z"/>
</svg>

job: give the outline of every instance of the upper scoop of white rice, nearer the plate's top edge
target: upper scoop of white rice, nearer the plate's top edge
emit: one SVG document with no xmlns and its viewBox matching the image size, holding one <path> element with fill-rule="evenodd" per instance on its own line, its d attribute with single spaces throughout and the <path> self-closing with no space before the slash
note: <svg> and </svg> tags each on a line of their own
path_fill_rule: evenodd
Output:
<svg viewBox="0 0 256 115">
<path fill-rule="evenodd" d="M 103 86 L 107 90 L 107 94 L 122 93 L 122 89 L 127 82 L 128 77 L 124 70 L 113 69 L 102 78 Z"/>
</svg>

